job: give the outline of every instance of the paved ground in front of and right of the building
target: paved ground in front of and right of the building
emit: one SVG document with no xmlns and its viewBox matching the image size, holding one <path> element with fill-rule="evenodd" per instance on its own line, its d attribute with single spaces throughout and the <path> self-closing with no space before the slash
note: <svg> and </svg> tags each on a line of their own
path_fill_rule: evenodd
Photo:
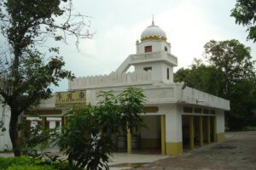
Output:
<svg viewBox="0 0 256 170">
<path fill-rule="evenodd" d="M 110 170 L 255 169 L 256 131 L 226 133 L 226 139 L 187 151 L 182 156 L 114 153 Z M 0 156 L 13 156 L 11 153 Z"/>
</svg>

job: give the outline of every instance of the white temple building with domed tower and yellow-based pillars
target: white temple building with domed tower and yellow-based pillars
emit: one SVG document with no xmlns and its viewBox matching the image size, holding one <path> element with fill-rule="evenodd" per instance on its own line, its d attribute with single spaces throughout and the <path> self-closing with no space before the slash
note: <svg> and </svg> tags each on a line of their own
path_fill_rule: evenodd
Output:
<svg viewBox="0 0 256 170">
<path fill-rule="evenodd" d="M 119 94 L 132 86 L 143 89 L 147 97 L 143 121 L 149 128 L 142 129 L 135 137 L 131 133 L 124 134 L 127 138 L 124 147 L 128 153 L 139 148 L 177 156 L 183 150 L 193 150 L 195 145 L 224 139 L 224 111 L 230 110 L 230 101 L 186 87 L 183 82 L 173 82 L 177 57 L 172 54 L 170 42 L 166 40 L 165 31 L 155 26 L 153 21 L 137 41 L 136 54 L 129 55 L 109 75 L 69 81 L 68 92 L 55 93 L 51 99 L 42 101 L 38 108 L 40 120 L 45 127 L 50 121 L 60 121 L 60 118 L 65 124 L 67 118 L 63 116 L 70 106 L 96 105 L 100 91 L 112 90 Z M 134 66 L 134 71 L 127 72 L 131 66 Z M 3 150 L 1 138 L 0 133 L 0 150 Z"/>
</svg>

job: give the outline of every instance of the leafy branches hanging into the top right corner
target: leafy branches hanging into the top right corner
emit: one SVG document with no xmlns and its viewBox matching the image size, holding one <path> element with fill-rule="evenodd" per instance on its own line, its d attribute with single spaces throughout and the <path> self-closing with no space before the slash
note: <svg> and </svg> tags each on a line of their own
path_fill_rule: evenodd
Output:
<svg viewBox="0 0 256 170">
<path fill-rule="evenodd" d="M 247 39 L 256 42 L 256 1 L 236 0 L 236 7 L 231 10 L 231 16 L 236 18 L 236 24 L 247 26 Z"/>
</svg>

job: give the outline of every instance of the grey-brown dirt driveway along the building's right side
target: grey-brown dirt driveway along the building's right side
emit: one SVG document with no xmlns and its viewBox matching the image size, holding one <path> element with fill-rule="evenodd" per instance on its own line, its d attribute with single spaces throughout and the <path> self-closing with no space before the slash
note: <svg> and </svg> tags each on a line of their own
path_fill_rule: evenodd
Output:
<svg viewBox="0 0 256 170">
<path fill-rule="evenodd" d="M 256 131 L 226 133 L 226 139 L 188 151 L 183 156 L 144 164 L 137 170 L 255 169 Z"/>
</svg>

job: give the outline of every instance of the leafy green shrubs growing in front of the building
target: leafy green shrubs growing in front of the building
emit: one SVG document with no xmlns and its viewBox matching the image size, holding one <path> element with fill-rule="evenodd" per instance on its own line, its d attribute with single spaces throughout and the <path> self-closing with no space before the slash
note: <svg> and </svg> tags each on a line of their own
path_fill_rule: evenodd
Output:
<svg viewBox="0 0 256 170">
<path fill-rule="evenodd" d="M 61 131 L 32 127 L 23 140 L 22 153 L 32 156 L 40 165 L 59 166 L 57 169 L 108 169 L 109 156 L 115 149 L 113 134 L 127 133 L 127 128 L 137 131 L 146 127 L 140 116 L 144 112 L 145 96 L 141 89 L 125 88 L 118 96 L 108 91 L 97 97 L 98 105 L 69 111 L 68 124 Z M 68 164 L 44 152 L 49 140 L 59 145 Z"/>
</svg>

